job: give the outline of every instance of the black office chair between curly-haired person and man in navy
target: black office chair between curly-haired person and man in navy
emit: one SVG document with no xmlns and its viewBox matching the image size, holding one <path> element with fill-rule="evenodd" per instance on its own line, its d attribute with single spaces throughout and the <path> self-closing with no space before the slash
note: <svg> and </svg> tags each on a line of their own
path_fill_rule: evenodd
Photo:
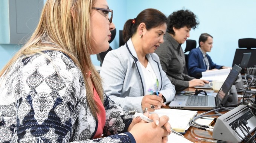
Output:
<svg viewBox="0 0 256 143">
<path fill-rule="evenodd" d="M 188 75 L 188 58 L 189 58 L 189 55 L 188 54 L 185 54 L 186 52 L 189 52 L 190 50 L 194 49 L 197 47 L 197 41 L 195 40 L 186 40 L 186 48 L 184 50 L 184 55 L 185 55 L 185 61 L 186 61 L 186 66 L 184 68 L 184 71 L 183 73 L 187 74 Z"/>
</svg>

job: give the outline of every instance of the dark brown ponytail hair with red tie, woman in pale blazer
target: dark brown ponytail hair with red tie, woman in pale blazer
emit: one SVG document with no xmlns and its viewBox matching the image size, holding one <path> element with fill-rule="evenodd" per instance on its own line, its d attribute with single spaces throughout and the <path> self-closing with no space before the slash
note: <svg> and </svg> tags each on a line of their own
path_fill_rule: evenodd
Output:
<svg viewBox="0 0 256 143">
<path fill-rule="evenodd" d="M 146 29 L 160 26 L 167 23 L 166 16 L 158 11 L 157 9 L 145 9 L 139 13 L 139 15 L 134 19 L 129 19 L 125 22 L 123 26 L 123 41 L 127 42 L 134 33 L 136 33 L 137 27 L 140 23 L 145 23 Z"/>
</svg>

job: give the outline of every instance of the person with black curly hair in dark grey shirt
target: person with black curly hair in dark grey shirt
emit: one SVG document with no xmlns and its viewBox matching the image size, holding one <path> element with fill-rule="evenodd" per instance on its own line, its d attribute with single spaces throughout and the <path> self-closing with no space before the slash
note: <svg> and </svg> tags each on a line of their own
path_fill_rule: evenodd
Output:
<svg viewBox="0 0 256 143">
<path fill-rule="evenodd" d="M 173 12 L 168 17 L 167 32 L 163 37 L 164 43 L 155 50 L 160 58 L 162 69 L 175 85 L 176 92 L 208 83 L 183 73 L 186 63 L 181 44 L 190 36 L 190 30 L 195 29 L 198 24 L 196 15 L 189 10 Z"/>
</svg>

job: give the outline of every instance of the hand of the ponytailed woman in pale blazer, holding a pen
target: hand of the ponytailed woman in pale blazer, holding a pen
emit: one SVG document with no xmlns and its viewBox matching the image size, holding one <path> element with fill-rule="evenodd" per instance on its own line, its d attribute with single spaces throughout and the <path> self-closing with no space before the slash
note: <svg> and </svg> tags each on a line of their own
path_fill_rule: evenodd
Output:
<svg viewBox="0 0 256 143">
<path fill-rule="evenodd" d="M 159 96 L 145 95 L 142 98 L 141 105 L 142 105 L 142 110 L 144 110 L 145 108 L 148 108 L 149 112 L 154 112 L 156 109 L 161 109 L 161 106 L 165 106 L 165 104 L 163 103 L 161 93 L 159 93 Z M 154 105 L 153 107 L 155 107 L 155 108 L 151 108 L 151 105 Z"/>
</svg>

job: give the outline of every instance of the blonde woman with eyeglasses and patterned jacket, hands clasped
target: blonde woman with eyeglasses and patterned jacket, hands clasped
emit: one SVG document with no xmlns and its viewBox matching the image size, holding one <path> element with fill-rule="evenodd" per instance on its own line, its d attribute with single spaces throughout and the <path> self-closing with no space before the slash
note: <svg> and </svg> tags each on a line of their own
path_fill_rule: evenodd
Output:
<svg viewBox="0 0 256 143">
<path fill-rule="evenodd" d="M 1 143 L 167 142 L 167 116 L 147 112 L 146 123 L 104 94 L 90 55 L 108 49 L 112 12 L 106 0 L 46 1 L 32 37 L 0 71 Z"/>
</svg>

